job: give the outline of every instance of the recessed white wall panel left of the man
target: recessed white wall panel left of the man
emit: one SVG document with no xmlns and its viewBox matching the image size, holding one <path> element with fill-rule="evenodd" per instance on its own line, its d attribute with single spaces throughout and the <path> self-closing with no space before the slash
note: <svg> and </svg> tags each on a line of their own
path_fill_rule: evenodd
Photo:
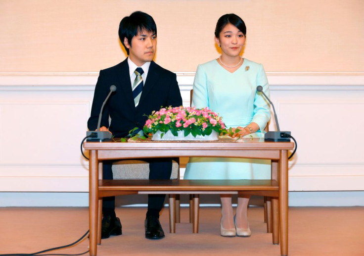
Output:
<svg viewBox="0 0 364 256">
<path fill-rule="evenodd" d="M 74 142 L 84 135 L 85 126 L 74 124 L 87 122 L 89 102 L 1 102 L 0 111 L 0 163 L 80 162 Z"/>
</svg>

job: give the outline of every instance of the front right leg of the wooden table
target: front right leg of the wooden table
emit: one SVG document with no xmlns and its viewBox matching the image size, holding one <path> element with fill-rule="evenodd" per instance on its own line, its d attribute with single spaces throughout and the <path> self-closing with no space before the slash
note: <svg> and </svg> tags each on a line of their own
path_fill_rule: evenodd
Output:
<svg viewBox="0 0 364 256">
<path fill-rule="evenodd" d="M 280 254 L 288 255 L 288 151 L 280 151 L 279 163 Z"/>
</svg>

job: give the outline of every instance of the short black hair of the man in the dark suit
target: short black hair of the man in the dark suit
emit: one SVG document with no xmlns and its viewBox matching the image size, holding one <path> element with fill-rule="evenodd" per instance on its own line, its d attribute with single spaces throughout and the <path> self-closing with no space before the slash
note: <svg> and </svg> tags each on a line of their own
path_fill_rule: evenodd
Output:
<svg viewBox="0 0 364 256">
<path fill-rule="evenodd" d="M 145 12 L 135 11 L 120 21 L 119 38 L 128 55 L 129 49 L 124 45 L 124 38 L 128 39 L 129 45 L 132 45 L 132 38 L 143 30 L 157 35 L 157 26 L 154 19 Z"/>
</svg>

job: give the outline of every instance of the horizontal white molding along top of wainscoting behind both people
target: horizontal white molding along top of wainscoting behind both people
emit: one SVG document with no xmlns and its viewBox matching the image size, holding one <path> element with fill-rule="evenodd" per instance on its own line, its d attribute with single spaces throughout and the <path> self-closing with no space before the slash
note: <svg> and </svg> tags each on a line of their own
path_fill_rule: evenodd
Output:
<svg viewBox="0 0 364 256">
<path fill-rule="evenodd" d="M 195 72 L 175 72 L 181 90 Z M 267 72 L 275 90 L 364 90 L 364 72 Z M 98 72 L 0 72 L 0 91 L 93 91 Z M 188 87 L 188 88 L 187 88 Z"/>
</svg>

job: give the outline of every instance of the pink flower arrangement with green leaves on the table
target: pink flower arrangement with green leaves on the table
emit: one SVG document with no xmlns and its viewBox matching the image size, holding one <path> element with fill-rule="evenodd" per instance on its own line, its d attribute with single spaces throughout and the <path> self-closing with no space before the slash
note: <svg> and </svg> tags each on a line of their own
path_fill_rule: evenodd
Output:
<svg viewBox="0 0 364 256">
<path fill-rule="evenodd" d="M 160 131 L 161 138 L 168 131 L 174 136 L 178 136 L 179 131 L 183 131 L 184 137 L 189 134 L 193 137 L 208 136 L 212 131 L 218 134 L 226 133 L 222 118 L 208 107 L 199 109 L 184 106 L 169 106 L 153 111 L 148 116 L 143 131 L 145 134 L 155 134 Z"/>
</svg>

